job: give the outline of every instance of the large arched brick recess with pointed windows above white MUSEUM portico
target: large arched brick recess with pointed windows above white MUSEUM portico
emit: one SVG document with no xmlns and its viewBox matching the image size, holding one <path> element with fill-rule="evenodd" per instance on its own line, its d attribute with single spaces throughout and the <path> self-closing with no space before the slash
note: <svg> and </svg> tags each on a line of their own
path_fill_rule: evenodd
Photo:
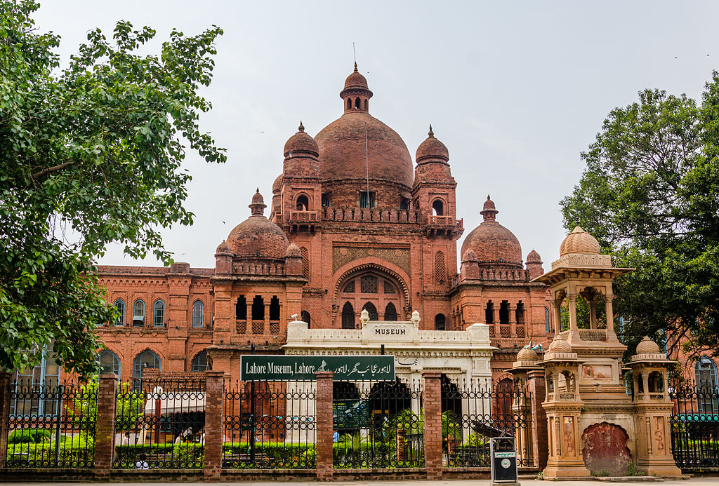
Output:
<svg viewBox="0 0 719 486">
<path fill-rule="evenodd" d="M 349 304 L 349 305 L 348 305 Z M 354 310 L 353 322 L 359 322 L 362 309 L 370 313 L 370 320 L 402 320 L 405 318 L 402 286 L 390 275 L 377 270 L 347 276 L 339 285 L 336 309 L 342 309 L 342 327 L 349 327 L 349 312 Z"/>
</svg>

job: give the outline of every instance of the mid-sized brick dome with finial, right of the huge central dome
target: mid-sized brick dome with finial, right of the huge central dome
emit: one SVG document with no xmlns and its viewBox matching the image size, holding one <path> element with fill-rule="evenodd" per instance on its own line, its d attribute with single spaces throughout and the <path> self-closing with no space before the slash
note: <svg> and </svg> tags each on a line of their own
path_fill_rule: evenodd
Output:
<svg viewBox="0 0 719 486">
<path fill-rule="evenodd" d="M 510 230 L 495 220 L 499 211 L 494 202 L 487 196 L 487 201 L 480 212 L 485 220 L 464 238 L 462 255 L 469 250 L 475 251 L 482 264 L 501 266 L 522 266 L 522 247 L 519 240 Z"/>
</svg>

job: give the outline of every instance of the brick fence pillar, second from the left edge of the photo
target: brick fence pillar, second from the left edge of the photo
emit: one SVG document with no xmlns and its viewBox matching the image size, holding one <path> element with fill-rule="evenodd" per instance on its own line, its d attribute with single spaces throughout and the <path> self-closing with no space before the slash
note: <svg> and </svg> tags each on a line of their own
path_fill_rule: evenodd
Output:
<svg viewBox="0 0 719 486">
<path fill-rule="evenodd" d="M 115 406 L 117 375 L 100 375 L 95 422 L 95 480 L 109 481 L 115 453 Z"/>
</svg>

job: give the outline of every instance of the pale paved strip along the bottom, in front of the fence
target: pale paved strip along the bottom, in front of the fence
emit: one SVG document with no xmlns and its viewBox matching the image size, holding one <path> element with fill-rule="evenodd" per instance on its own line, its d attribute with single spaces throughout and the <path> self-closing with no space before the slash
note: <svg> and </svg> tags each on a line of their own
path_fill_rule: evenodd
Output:
<svg viewBox="0 0 719 486">
<path fill-rule="evenodd" d="M 421 483 L 421 486 L 489 486 L 490 481 L 489 480 L 446 480 L 446 481 L 371 481 L 372 486 L 417 486 L 416 483 Z M 37 486 L 87 486 L 89 483 L 87 482 L 0 482 L 0 485 L 7 485 L 7 486 L 27 486 L 35 484 Z M 152 484 L 153 486 L 200 486 L 200 485 L 206 485 L 207 483 L 204 482 L 123 482 L 123 483 L 114 483 L 114 484 L 120 484 L 122 486 L 147 486 Z M 217 482 L 213 483 L 216 485 L 237 485 L 237 486 L 278 486 L 278 485 L 287 485 L 287 486 L 333 486 L 333 485 L 352 485 L 352 486 L 359 486 L 359 485 L 365 485 L 367 484 L 367 481 L 337 481 L 337 482 L 307 482 L 307 481 L 299 481 L 299 482 Z M 622 483 L 609 483 L 609 482 L 603 482 L 603 481 L 537 481 L 537 480 L 521 480 L 521 484 L 523 486 L 582 486 L 582 485 L 608 485 L 608 484 L 625 484 L 625 485 L 662 485 L 662 486 L 691 486 L 691 485 L 699 485 L 699 486 L 709 486 L 709 485 L 719 485 L 719 477 L 692 477 L 689 480 L 676 480 L 676 481 L 662 481 L 662 482 L 648 482 L 648 481 L 642 481 L 641 478 L 638 478 L 636 482 L 622 482 Z"/>
</svg>

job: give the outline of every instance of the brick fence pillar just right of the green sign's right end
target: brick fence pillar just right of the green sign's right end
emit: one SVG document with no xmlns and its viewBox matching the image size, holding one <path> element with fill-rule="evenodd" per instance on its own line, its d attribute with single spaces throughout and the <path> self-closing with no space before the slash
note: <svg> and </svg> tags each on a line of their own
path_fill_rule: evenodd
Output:
<svg viewBox="0 0 719 486">
<path fill-rule="evenodd" d="M 441 373 L 422 373 L 422 408 L 424 409 L 424 464 L 427 480 L 442 478 L 442 403 Z"/>
</svg>

